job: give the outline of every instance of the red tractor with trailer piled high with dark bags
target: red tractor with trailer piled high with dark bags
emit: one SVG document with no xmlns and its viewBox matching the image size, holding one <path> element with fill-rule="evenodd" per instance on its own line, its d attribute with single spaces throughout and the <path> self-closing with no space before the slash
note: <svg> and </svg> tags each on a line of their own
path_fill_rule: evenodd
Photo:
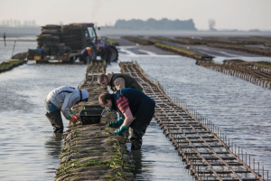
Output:
<svg viewBox="0 0 271 181">
<path fill-rule="evenodd" d="M 27 56 L 28 60 L 37 63 L 55 60 L 74 63 L 77 59 L 88 63 L 89 60 L 97 60 L 100 55 L 98 48 L 106 45 L 111 49 L 110 62 L 117 62 L 118 59 L 117 48 L 108 44 L 105 38 L 98 39 L 94 24 L 45 25 L 37 41 L 37 49 L 30 49 Z M 81 56 L 86 47 L 91 48 L 88 58 Z"/>
</svg>

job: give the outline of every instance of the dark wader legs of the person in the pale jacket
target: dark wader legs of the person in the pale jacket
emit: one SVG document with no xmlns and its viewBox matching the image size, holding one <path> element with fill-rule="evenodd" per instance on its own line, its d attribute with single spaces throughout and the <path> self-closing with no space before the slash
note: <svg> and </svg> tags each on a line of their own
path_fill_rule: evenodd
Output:
<svg viewBox="0 0 271 181">
<path fill-rule="evenodd" d="M 54 110 L 50 113 L 46 113 L 45 116 L 47 119 L 49 119 L 51 126 L 53 127 L 54 133 L 62 133 L 63 132 L 63 122 L 61 118 L 61 111 L 60 110 Z"/>
</svg>

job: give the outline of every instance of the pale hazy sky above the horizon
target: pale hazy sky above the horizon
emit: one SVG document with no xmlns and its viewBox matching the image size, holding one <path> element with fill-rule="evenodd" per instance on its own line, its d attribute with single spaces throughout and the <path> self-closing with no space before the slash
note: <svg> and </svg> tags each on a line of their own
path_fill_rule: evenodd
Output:
<svg viewBox="0 0 271 181">
<path fill-rule="evenodd" d="M 196 28 L 271 30 L 271 0 L 0 0 L 3 20 L 35 20 L 36 24 L 98 23 L 117 19 L 193 19 Z"/>
</svg>

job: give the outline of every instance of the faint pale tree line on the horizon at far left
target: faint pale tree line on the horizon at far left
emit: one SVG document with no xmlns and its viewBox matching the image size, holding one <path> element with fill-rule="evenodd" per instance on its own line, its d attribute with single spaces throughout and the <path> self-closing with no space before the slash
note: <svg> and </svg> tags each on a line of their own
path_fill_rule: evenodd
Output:
<svg viewBox="0 0 271 181">
<path fill-rule="evenodd" d="M 2 27 L 36 27 L 35 20 L 20 20 L 10 19 L 10 20 L 2 20 L 0 26 Z"/>
</svg>

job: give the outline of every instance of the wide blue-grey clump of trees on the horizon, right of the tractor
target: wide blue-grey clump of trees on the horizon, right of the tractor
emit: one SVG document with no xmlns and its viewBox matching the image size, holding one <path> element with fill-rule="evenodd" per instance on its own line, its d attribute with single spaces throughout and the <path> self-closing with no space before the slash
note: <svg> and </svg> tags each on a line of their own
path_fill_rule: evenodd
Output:
<svg viewBox="0 0 271 181">
<path fill-rule="evenodd" d="M 117 20 L 113 26 L 117 29 L 132 29 L 132 30 L 189 30 L 197 31 L 193 20 L 168 20 L 163 18 L 162 20 L 155 20 L 150 18 L 146 21 L 132 19 L 132 20 Z"/>
</svg>

